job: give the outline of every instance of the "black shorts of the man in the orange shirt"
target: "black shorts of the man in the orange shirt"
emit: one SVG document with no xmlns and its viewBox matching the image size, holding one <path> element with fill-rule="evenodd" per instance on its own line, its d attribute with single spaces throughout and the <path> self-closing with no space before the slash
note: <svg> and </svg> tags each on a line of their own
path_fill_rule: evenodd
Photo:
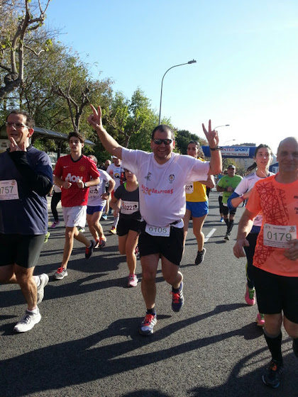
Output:
<svg viewBox="0 0 298 397">
<path fill-rule="evenodd" d="M 260 313 L 284 313 L 298 324 L 298 277 L 278 276 L 253 267 L 255 292 Z"/>
</svg>

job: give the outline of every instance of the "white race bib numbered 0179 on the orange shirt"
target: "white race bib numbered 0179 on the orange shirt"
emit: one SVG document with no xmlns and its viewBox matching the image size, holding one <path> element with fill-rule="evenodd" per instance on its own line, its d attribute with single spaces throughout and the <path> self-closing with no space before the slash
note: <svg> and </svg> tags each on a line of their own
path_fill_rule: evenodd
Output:
<svg viewBox="0 0 298 397">
<path fill-rule="evenodd" d="M 264 245 L 275 248 L 288 248 L 289 242 L 297 238 L 296 226 L 264 225 Z"/>
</svg>

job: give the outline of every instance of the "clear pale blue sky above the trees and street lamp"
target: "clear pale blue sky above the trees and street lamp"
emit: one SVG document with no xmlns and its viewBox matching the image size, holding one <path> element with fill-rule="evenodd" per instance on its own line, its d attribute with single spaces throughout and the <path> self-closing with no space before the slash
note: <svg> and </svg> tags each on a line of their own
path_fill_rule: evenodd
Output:
<svg viewBox="0 0 298 397">
<path fill-rule="evenodd" d="M 128 98 L 140 87 L 162 116 L 199 136 L 211 118 L 220 144 L 297 136 L 298 1 L 52 0 L 49 26 L 95 78 Z"/>
</svg>

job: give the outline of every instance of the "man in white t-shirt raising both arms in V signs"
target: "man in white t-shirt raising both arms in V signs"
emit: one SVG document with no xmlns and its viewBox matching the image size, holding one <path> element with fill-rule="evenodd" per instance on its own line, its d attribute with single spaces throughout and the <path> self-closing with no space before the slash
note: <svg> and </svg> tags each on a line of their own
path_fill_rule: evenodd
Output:
<svg viewBox="0 0 298 397">
<path fill-rule="evenodd" d="M 179 271 L 183 252 L 183 216 L 185 213 L 185 184 L 187 181 L 206 181 L 208 175 L 221 172 L 221 152 L 216 131 L 203 130 L 211 149 L 211 161 L 177 155 L 174 133 L 167 125 L 153 130 L 153 153 L 128 150 L 109 135 L 101 122 L 101 108 L 92 107 L 89 124 L 96 130 L 105 149 L 120 159 L 122 166 L 136 174 L 140 191 L 140 213 L 143 216 L 138 240 L 142 265 L 142 293 L 147 313 L 140 325 L 142 335 L 151 335 L 157 322 L 155 312 L 155 277 L 161 258 L 162 275 L 172 286 L 172 310 L 180 311 L 184 303 L 183 276 Z"/>
</svg>

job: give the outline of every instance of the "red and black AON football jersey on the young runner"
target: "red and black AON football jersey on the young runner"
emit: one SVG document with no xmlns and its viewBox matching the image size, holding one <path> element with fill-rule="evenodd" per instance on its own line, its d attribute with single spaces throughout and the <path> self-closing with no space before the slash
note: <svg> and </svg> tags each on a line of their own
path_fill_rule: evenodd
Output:
<svg viewBox="0 0 298 397">
<path fill-rule="evenodd" d="M 71 155 L 59 157 L 54 175 L 62 181 L 69 181 L 70 189 L 61 189 L 63 207 L 87 206 L 89 189 L 80 189 L 77 181 L 90 181 L 99 177 L 94 161 L 82 155 L 79 160 L 72 160 Z"/>
</svg>

